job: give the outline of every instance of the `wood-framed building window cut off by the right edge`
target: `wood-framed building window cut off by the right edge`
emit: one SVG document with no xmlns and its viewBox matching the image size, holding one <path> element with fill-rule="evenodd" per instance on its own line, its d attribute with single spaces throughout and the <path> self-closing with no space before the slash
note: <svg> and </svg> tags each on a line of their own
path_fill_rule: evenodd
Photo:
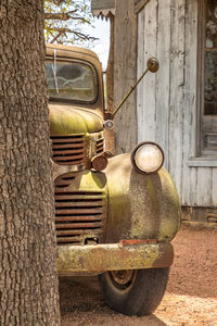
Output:
<svg viewBox="0 0 217 326">
<path fill-rule="evenodd" d="M 201 154 L 217 155 L 217 1 L 203 5 Z M 200 87 L 201 88 L 201 87 Z"/>
</svg>

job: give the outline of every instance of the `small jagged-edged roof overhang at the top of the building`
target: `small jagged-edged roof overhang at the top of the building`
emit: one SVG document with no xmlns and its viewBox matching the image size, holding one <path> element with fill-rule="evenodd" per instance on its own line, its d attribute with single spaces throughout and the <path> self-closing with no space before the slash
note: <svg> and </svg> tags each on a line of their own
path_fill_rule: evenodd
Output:
<svg viewBox="0 0 217 326">
<path fill-rule="evenodd" d="M 110 13 L 115 15 L 116 0 L 91 0 L 91 11 L 94 16 L 107 17 Z"/>
</svg>

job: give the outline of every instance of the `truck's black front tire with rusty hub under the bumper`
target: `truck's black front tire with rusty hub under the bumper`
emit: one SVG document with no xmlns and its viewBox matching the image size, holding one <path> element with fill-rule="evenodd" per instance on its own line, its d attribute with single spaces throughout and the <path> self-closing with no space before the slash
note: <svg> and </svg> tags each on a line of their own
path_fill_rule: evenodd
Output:
<svg viewBox="0 0 217 326">
<path fill-rule="evenodd" d="M 106 272 L 99 275 L 105 303 L 126 315 L 148 315 L 164 297 L 169 267 Z"/>
</svg>

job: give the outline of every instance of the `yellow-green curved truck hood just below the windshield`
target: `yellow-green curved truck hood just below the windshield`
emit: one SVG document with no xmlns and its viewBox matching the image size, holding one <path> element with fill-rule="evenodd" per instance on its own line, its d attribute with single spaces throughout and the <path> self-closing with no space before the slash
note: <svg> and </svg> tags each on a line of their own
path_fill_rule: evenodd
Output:
<svg viewBox="0 0 217 326">
<path fill-rule="evenodd" d="M 92 134 L 103 130 L 103 121 L 94 112 L 79 108 L 50 104 L 51 135 Z"/>
</svg>

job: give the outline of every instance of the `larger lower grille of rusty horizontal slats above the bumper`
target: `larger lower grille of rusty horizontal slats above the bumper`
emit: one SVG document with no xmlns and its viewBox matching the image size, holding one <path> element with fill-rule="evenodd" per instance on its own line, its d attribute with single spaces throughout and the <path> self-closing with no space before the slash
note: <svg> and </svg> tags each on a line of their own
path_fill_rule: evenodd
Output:
<svg viewBox="0 0 217 326">
<path fill-rule="evenodd" d="M 79 244 L 88 235 L 101 238 L 105 226 L 104 191 L 72 191 L 72 173 L 55 179 L 55 227 L 58 243 Z"/>
</svg>

